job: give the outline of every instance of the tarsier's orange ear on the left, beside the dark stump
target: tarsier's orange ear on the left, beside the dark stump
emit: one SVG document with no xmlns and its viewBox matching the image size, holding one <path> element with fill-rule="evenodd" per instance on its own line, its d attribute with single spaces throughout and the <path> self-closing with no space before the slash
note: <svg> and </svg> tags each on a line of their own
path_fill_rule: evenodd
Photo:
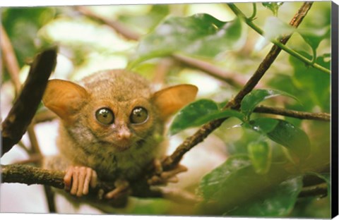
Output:
<svg viewBox="0 0 339 220">
<path fill-rule="evenodd" d="M 71 122 L 73 115 L 88 100 L 88 92 L 73 82 L 49 80 L 42 102 L 62 120 Z"/>
</svg>

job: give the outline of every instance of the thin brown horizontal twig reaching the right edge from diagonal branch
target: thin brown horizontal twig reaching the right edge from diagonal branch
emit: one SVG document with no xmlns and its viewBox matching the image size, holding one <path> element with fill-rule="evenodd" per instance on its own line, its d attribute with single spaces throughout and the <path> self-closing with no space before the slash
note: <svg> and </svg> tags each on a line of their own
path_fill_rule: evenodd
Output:
<svg viewBox="0 0 339 220">
<path fill-rule="evenodd" d="M 331 114 L 328 113 L 311 113 L 307 111 L 295 111 L 283 108 L 269 107 L 269 106 L 258 106 L 254 109 L 256 113 L 265 113 L 265 114 L 276 114 L 281 116 L 288 116 L 292 118 L 299 119 L 309 119 L 317 121 L 331 121 Z"/>
</svg>

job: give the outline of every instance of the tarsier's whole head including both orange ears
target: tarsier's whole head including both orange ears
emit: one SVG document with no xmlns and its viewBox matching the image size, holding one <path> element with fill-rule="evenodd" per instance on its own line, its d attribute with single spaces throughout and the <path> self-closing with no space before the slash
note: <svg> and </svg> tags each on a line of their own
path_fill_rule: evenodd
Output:
<svg viewBox="0 0 339 220">
<path fill-rule="evenodd" d="M 81 147 L 114 147 L 121 152 L 162 135 L 167 118 L 193 101 L 196 92 L 194 85 L 153 92 L 140 75 L 115 70 L 95 73 L 79 85 L 51 80 L 43 102 Z"/>
</svg>

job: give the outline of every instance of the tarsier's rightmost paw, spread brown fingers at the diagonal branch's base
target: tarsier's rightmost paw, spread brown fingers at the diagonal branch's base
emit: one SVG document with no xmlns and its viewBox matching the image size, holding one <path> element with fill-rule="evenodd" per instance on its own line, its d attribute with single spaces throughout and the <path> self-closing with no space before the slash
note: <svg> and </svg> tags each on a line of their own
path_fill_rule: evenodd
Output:
<svg viewBox="0 0 339 220">
<path fill-rule="evenodd" d="M 167 185 L 167 183 L 177 183 L 179 179 L 177 178 L 178 173 L 187 171 L 186 166 L 178 164 L 174 169 L 170 171 L 163 171 L 161 161 L 155 159 L 153 161 L 155 166 L 155 175 L 148 179 L 149 185 Z"/>
</svg>

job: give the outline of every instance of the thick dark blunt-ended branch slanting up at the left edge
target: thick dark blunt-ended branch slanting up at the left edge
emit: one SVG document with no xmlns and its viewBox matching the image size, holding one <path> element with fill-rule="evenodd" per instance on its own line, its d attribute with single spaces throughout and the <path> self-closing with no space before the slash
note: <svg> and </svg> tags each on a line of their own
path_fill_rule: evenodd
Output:
<svg viewBox="0 0 339 220">
<path fill-rule="evenodd" d="M 1 123 L 2 152 L 1 156 L 16 145 L 23 137 L 32 121 L 37 107 L 42 99 L 42 94 L 47 85 L 49 75 L 57 62 L 57 49 L 47 49 L 35 57 L 28 78 L 23 85 L 18 99 L 13 104 L 8 116 Z"/>
</svg>

